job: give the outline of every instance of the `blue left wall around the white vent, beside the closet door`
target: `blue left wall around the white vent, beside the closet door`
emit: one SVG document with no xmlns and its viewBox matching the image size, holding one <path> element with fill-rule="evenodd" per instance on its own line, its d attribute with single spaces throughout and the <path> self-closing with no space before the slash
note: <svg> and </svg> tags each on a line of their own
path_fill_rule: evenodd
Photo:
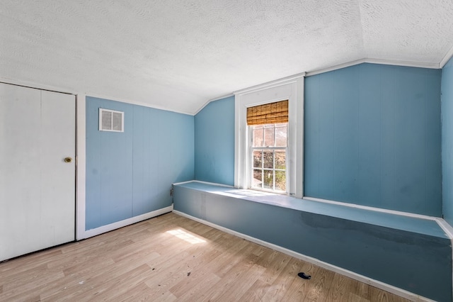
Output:
<svg viewBox="0 0 453 302">
<path fill-rule="evenodd" d="M 98 110 L 125 112 L 125 132 L 98 130 Z M 193 179 L 194 118 L 86 98 L 86 230 L 171 206 L 171 184 Z"/>
</svg>

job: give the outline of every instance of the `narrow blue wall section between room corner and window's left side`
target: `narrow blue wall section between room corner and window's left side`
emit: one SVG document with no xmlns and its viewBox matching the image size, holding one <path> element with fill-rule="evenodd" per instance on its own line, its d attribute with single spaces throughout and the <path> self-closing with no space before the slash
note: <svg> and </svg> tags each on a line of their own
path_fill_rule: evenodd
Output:
<svg viewBox="0 0 453 302">
<path fill-rule="evenodd" d="M 234 185 L 234 96 L 195 116 L 195 179 Z"/>
</svg>

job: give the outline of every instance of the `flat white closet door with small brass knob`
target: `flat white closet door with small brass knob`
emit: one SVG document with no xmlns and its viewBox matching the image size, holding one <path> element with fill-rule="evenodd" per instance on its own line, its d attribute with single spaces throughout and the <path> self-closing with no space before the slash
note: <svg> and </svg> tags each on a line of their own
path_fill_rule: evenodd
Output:
<svg viewBox="0 0 453 302">
<path fill-rule="evenodd" d="M 0 261 L 74 238 L 75 96 L 0 83 Z"/>
</svg>

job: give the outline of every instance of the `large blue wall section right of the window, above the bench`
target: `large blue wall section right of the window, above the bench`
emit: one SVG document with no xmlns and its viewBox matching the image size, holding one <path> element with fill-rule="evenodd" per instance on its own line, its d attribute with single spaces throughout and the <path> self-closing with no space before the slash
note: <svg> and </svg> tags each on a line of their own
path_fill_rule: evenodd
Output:
<svg viewBox="0 0 453 302">
<path fill-rule="evenodd" d="M 374 64 L 307 77 L 304 195 L 441 216 L 440 82 Z"/>
</svg>

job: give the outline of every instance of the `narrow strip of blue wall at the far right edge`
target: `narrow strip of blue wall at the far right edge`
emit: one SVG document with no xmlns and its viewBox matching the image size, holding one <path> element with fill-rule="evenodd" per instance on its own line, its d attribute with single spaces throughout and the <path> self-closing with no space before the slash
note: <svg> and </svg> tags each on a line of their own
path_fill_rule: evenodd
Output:
<svg viewBox="0 0 453 302">
<path fill-rule="evenodd" d="M 442 206 L 453 225 L 453 58 L 442 69 Z"/>
</svg>

